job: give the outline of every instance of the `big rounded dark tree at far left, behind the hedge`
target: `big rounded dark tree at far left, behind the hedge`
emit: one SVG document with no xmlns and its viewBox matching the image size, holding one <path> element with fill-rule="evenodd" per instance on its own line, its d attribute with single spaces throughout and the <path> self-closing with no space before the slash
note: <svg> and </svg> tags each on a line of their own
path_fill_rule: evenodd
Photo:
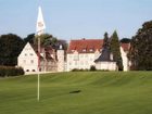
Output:
<svg viewBox="0 0 152 114">
<path fill-rule="evenodd" d="M 17 35 L 0 36 L 0 65 L 14 66 L 24 47 L 24 40 Z"/>
</svg>

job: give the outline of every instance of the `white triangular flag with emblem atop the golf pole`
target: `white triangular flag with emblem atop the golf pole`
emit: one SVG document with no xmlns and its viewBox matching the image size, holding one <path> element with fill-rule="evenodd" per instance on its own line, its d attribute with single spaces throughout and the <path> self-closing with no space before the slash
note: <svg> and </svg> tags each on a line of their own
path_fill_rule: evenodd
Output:
<svg viewBox="0 0 152 114">
<path fill-rule="evenodd" d="M 45 29 L 46 29 L 46 25 L 45 25 L 45 21 L 43 21 L 43 16 L 42 16 L 42 11 L 41 11 L 41 8 L 39 7 L 36 31 L 38 35 L 41 35 L 41 34 L 43 34 Z"/>
</svg>

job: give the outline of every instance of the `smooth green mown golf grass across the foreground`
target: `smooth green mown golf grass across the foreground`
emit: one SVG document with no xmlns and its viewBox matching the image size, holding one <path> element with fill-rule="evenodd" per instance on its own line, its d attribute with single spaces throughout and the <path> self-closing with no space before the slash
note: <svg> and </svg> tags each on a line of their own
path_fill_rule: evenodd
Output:
<svg viewBox="0 0 152 114">
<path fill-rule="evenodd" d="M 152 72 L 72 72 L 0 78 L 0 114 L 152 114 Z"/>
</svg>

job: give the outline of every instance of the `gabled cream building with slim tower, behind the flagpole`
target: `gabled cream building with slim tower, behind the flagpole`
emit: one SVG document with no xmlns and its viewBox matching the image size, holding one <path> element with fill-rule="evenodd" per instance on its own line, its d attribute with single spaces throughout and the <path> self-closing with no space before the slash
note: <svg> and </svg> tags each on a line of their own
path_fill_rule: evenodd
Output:
<svg viewBox="0 0 152 114">
<path fill-rule="evenodd" d="M 38 61 L 37 47 L 31 46 L 29 42 L 24 47 L 21 54 L 17 58 L 17 66 L 24 68 L 26 74 L 33 74 L 39 71 L 46 72 L 64 72 L 64 50 L 59 50 L 51 47 L 41 47 L 40 59 Z M 63 59 L 62 59 L 63 58 Z M 58 68 L 60 67 L 60 68 Z"/>
</svg>

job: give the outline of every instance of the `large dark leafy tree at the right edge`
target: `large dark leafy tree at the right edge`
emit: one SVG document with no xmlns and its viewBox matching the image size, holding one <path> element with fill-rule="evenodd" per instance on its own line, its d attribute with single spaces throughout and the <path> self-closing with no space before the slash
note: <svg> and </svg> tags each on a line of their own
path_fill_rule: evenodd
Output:
<svg viewBox="0 0 152 114">
<path fill-rule="evenodd" d="M 152 71 L 152 21 L 145 22 L 132 37 L 129 59 L 132 69 Z"/>
</svg>

